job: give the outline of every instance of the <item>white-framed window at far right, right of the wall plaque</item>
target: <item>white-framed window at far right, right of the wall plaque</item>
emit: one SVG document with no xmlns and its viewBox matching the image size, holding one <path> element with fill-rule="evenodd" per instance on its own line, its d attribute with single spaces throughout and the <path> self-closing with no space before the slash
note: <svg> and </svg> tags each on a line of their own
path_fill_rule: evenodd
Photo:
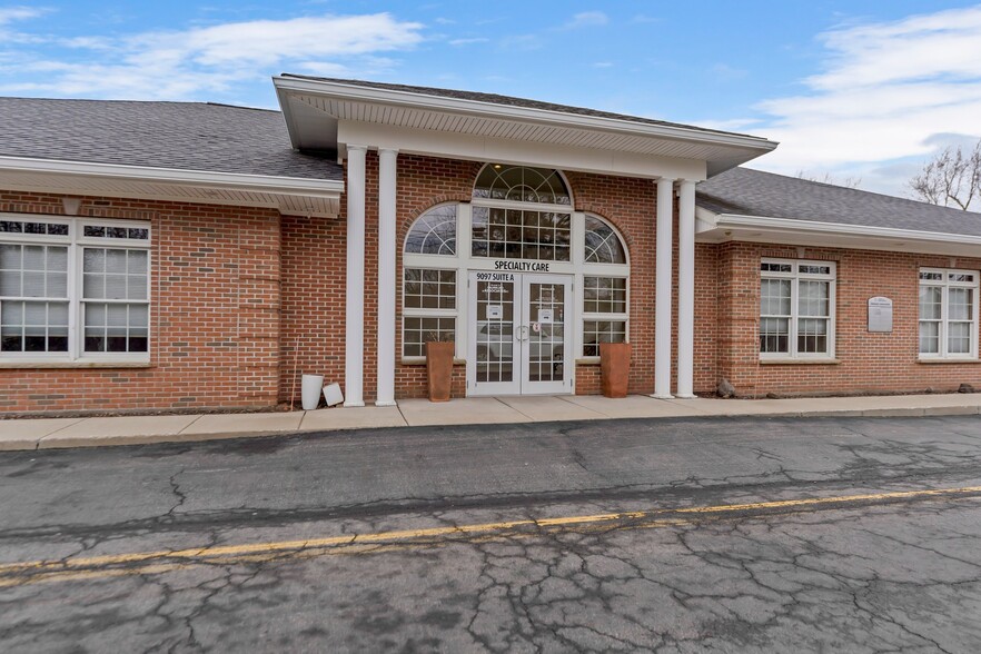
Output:
<svg viewBox="0 0 981 654">
<path fill-rule="evenodd" d="M 920 269 L 920 358 L 978 358 L 977 270 Z"/>
</svg>

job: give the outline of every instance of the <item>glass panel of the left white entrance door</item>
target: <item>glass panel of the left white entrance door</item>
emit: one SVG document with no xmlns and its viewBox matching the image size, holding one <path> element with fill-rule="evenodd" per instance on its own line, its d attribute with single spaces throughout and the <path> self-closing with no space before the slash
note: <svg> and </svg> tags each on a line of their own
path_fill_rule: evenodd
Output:
<svg viewBox="0 0 981 654">
<path fill-rule="evenodd" d="M 514 281 L 477 281 L 477 382 L 514 380 Z"/>
</svg>

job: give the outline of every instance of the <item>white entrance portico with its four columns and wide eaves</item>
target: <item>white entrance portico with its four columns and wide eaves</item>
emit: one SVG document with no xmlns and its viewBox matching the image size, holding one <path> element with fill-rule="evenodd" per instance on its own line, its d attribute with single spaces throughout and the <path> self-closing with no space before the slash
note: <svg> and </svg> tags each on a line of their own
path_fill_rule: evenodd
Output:
<svg viewBox="0 0 981 654">
<path fill-rule="evenodd" d="M 693 397 L 694 189 L 773 149 L 765 139 L 484 93 L 283 76 L 297 149 L 347 157 L 347 406 L 364 404 L 365 155 L 379 156 L 378 405 L 395 402 L 397 155 L 646 178 L 656 185 L 655 397 Z M 503 101 L 507 100 L 507 101 Z M 353 145 L 357 143 L 357 145 Z M 677 387 L 671 389 L 674 196 L 678 195 Z"/>
</svg>

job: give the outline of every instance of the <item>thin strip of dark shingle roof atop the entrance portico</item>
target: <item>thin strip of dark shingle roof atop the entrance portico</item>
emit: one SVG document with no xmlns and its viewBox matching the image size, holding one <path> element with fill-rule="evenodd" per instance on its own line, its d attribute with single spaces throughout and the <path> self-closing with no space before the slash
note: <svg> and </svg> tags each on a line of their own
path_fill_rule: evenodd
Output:
<svg viewBox="0 0 981 654">
<path fill-rule="evenodd" d="M 334 82 L 341 85 L 350 85 L 354 87 L 366 87 L 369 89 L 382 89 L 387 91 L 403 91 L 407 93 L 417 93 L 423 96 L 434 96 L 437 98 L 455 98 L 457 100 L 473 100 L 475 102 L 487 102 L 489 105 L 502 105 L 505 107 L 524 107 L 527 109 L 542 109 L 544 111 L 556 111 L 558 113 L 569 113 L 573 116 L 589 116 L 593 118 L 612 118 L 615 120 L 625 120 L 627 122 L 636 122 L 640 125 L 658 125 L 662 127 L 675 127 L 682 129 L 691 129 L 705 133 L 720 133 L 729 136 L 745 137 L 749 135 L 737 133 L 733 131 L 722 131 L 717 129 L 707 129 L 693 125 L 684 125 L 681 122 L 667 122 L 666 120 L 655 120 L 653 118 L 642 118 L 640 116 L 628 116 L 626 113 L 613 113 L 611 111 L 600 111 L 597 109 L 587 109 L 584 107 L 571 107 L 567 105 L 556 105 L 554 102 L 542 102 L 538 100 L 528 100 L 526 98 L 514 98 L 512 96 L 498 96 L 497 93 L 480 93 L 476 91 L 457 91 L 453 89 L 439 89 L 435 87 L 414 87 L 409 85 L 392 85 L 385 82 L 373 82 L 357 79 L 339 79 L 331 77 L 314 77 L 307 75 L 283 73 L 280 77 L 293 79 L 307 79 L 313 81 Z M 753 137 L 755 138 L 755 137 Z"/>
</svg>

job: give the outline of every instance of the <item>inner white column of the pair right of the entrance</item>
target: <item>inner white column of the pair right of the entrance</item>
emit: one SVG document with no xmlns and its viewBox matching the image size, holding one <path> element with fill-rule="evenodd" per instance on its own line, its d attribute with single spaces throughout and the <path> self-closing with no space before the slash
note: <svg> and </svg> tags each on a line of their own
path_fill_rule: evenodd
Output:
<svg viewBox="0 0 981 654">
<path fill-rule="evenodd" d="M 657 244 L 654 289 L 654 397 L 671 397 L 671 224 L 674 180 L 657 180 Z"/>
</svg>

